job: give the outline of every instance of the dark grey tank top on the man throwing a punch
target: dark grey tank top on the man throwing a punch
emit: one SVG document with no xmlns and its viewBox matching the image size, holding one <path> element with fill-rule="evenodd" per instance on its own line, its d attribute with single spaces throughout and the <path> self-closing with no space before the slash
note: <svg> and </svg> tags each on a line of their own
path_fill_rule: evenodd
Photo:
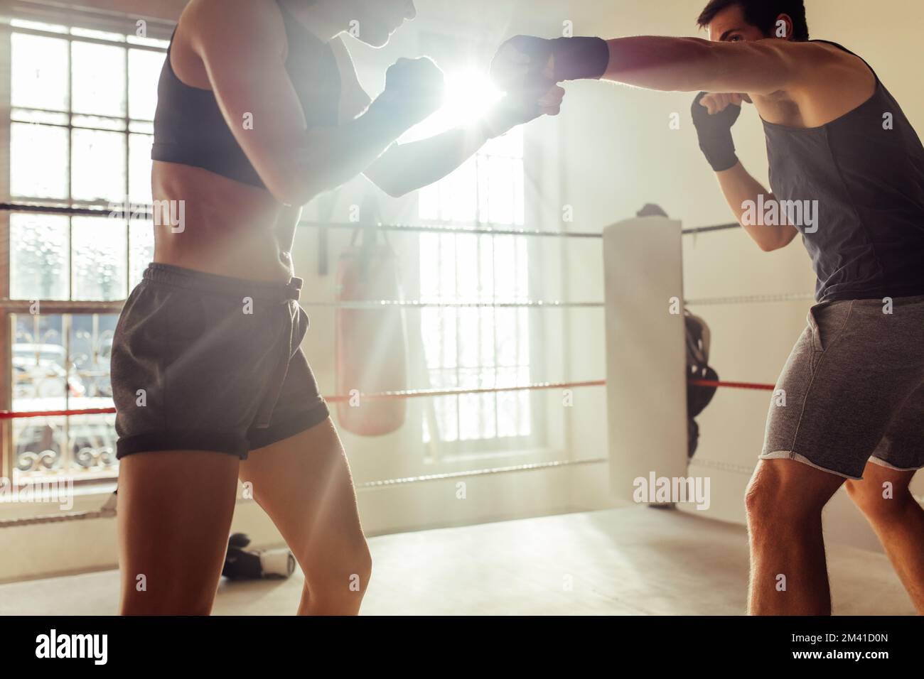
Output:
<svg viewBox="0 0 924 679">
<path fill-rule="evenodd" d="M 924 147 L 879 76 L 867 102 L 827 125 L 763 127 L 776 199 L 817 206 L 815 224 L 803 212 L 794 225 L 818 301 L 924 295 Z"/>
</svg>

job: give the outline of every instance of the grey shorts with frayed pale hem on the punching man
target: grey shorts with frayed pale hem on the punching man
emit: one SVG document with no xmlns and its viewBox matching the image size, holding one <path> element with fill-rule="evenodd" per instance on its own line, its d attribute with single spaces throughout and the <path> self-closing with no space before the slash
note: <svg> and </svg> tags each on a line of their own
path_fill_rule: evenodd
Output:
<svg viewBox="0 0 924 679">
<path fill-rule="evenodd" d="M 848 479 L 867 462 L 924 467 L 924 297 L 884 309 L 879 299 L 811 309 L 776 384 L 761 458 Z"/>
</svg>

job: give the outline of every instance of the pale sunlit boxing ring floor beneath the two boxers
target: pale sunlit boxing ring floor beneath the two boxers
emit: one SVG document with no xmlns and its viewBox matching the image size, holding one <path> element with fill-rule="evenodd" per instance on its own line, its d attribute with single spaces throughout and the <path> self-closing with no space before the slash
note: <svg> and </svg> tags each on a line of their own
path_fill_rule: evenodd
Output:
<svg viewBox="0 0 924 679">
<path fill-rule="evenodd" d="M 743 527 L 632 507 L 370 540 L 373 578 L 363 612 L 388 614 L 715 615 L 745 610 Z M 914 614 L 886 558 L 831 545 L 834 612 Z M 229 583 L 218 615 L 295 612 L 302 577 Z M 0 615 L 108 615 L 116 571 L 0 587 Z"/>
</svg>

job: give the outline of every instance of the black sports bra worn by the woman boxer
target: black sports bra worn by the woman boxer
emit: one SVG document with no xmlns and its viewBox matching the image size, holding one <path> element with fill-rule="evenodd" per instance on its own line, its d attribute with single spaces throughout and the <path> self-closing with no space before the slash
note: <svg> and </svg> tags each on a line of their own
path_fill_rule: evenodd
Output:
<svg viewBox="0 0 924 679">
<path fill-rule="evenodd" d="M 334 127 L 338 123 L 341 91 L 334 51 L 329 43 L 298 23 L 282 3 L 277 5 L 286 22 L 286 71 L 308 126 Z M 201 167 L 252 187 L 266 188 L 228 127 L 214 93 L 180 81 L 170 64 L 170 51 L 167 50 L 157 86 L 152 159 Z"/>
</svg>

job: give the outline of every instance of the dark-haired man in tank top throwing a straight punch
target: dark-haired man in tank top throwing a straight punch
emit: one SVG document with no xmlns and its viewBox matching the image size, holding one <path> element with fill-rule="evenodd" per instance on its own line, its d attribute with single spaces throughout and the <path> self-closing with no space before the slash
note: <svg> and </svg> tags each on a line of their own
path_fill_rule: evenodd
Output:
<svg viewBox="0 0 924 679">
<path fill-rule="evenodd" d="M 924 467 L 924 147 L 861 58 L 808 40 L 802 0 L 712 0 L 699 25 L 711 42 L 520 36 L 492 73 L 507 91 L 714 92 L 693 116 L 729 205 L 760 249 L 801 233 L 818 275 L 748 487 L 750 612 L 831 612 L 821 509 L 845 479 L 924 612 L 924 511 L 908 490 Z M 742 102 L 763 119 L 772 194 L 735 155 Z M 784 218 L 753 219 L 761 202 Z M 814 206 L 810 221 L 796 210 Z"/>
</svg>

